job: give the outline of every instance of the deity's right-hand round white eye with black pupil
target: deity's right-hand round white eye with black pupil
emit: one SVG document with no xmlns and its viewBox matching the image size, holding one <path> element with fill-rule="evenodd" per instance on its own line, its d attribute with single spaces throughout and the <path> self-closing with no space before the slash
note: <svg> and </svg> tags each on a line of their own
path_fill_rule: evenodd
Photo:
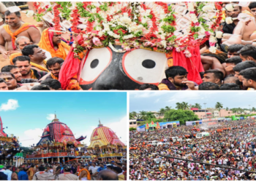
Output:
<svg viewBox="0 0 256 182">
<path fill-rule="evenodd" d="M 123 57 L 125 74 L 138 84 L 158 84 L 162 81 L 167 66 L 165 53 L 150 50 L 132 50 Z"/>
</svg>

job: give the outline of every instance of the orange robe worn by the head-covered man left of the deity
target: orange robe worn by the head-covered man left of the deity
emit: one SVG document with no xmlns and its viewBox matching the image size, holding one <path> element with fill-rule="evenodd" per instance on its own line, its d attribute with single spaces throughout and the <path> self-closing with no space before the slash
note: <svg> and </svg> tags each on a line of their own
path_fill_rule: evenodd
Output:
<svg viewBox="0 0 256 182">
<path fill-rule="evenodd" d="M 70 47 L 64 41 L 61 41 L 61 43 L 59 44 L 59 49 L 54 50 L 54 47 L 50 44 L 51 41 L 52 41 L 52 36 L 50 40 L 49 28 L 46 28 L 44 31 L 42 31 L 42 36 L 38 46 L 41 47 L 43 50 L 50 52 L 50 55 L 53 58 L 58 57 L 65 60 L 67 57 L 67 52 L 69 52 L 70 50 Z"/>
</svg>

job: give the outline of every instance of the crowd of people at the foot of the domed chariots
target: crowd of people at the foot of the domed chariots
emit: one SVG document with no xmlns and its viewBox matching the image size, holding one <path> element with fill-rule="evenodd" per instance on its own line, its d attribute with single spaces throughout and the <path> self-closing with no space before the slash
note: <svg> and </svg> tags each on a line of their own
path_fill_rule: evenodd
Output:
<svg viewBox="0 0 256 182">
<path fill-rule="evenodd" d="M 110 162 L 96 160 L 44 163 L 24 163 L 19 167 L 0 165 L 0 180 L 6 181 L 124 181 L 127 179 L 125 160 Z"/>
</svg>

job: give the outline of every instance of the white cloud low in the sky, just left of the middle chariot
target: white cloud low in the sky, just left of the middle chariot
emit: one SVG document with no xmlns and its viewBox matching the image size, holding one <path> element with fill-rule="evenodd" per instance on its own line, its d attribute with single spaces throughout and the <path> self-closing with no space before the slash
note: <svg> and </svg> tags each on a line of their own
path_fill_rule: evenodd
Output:
<svg viewBox="0 0 256 182">
<path fill-rule="evenodd" d="M 20 136 L 19 141 L 21 146 L 37 145 L 42 136 L 43 129 L 35 128 L 33 130 L 26 130 L 24 135 Z"/>
</svg>

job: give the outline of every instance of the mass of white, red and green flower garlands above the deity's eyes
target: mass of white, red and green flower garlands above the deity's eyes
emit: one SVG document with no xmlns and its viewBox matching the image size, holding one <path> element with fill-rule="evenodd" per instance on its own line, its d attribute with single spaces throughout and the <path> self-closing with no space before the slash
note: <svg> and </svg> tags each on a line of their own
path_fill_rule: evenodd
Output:
<svg viewBox="0 0 256 182">
<path fill-rule="evenodd" d="M 210 36 L 214 36 L 214 31 L 222 19 L 219 2 L 186 2 L 189 10 L 186 15 L 190 20 L 189 31 L 177 29 L 176 6 L 168 6 L 165 2 L 77 2 L 72 5 L 71 15 L 66 13 L 71 11 L 70 4 L 67 9 L 64 9 L 64 4 L 56 4 L 59 6 L 53 7 L 56 24 L 54 27 L 60 28 L 58 24 L 61 10 L 65 19 L 69 20 L 71 17 L 73 35 L 83 36 L 83 43 L 73 44 L 76 55 L 83 49 L 120 44 L 125 51 L 144 48 L 170 52 L 174 48 L 178 52 L 184 52 L 189 58 L 192 55 L 188 47 L 203 44 Z M 48 9 L 45 12 L 47 11 Z M 208 12 L 215 12 L 214 17 L 209 17 L 210 20 L 203 17 L 204 14 L 209 16 Z M 178 16 L 180 17 L 181 15 Z M 78 28 L 80 24 L 85 24 L 86 27 Z M 214 43 L 213 38 L 211 41 Z"/>
</svg>

